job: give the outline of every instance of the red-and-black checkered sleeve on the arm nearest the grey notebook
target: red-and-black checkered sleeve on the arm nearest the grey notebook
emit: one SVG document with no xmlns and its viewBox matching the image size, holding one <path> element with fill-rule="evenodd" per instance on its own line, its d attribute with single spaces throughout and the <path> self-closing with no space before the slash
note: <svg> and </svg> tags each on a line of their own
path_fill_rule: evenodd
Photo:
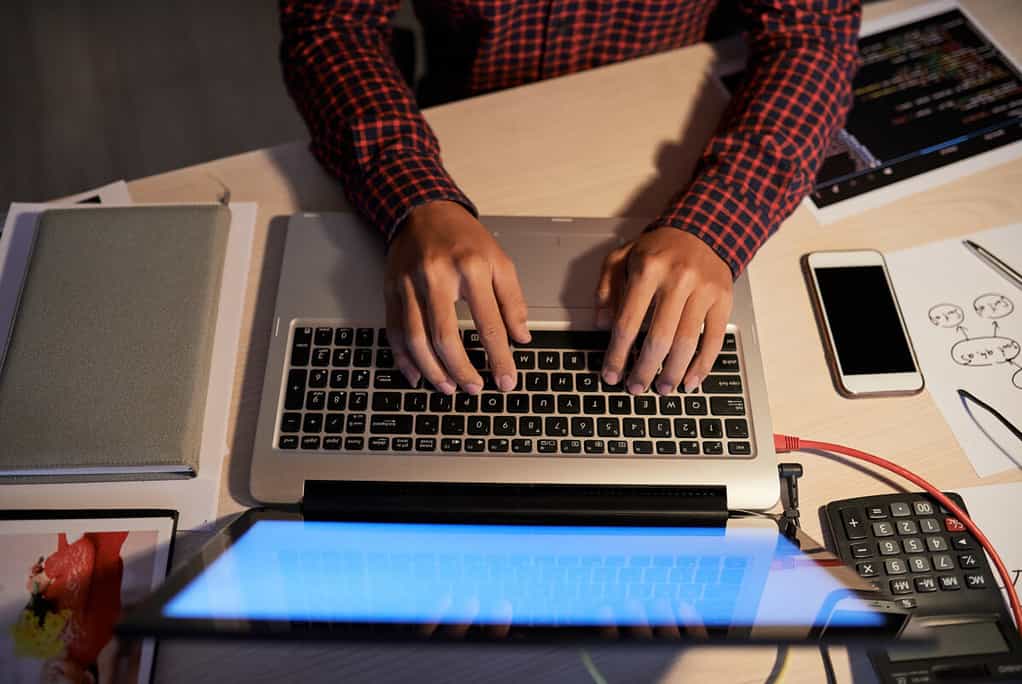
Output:
<svg viewBox="0 0 1022 684">
<path fill-rule="evenodd" d="M 440 164 L 439 144 L 388 48 L 400 0 L 280 0 L 280 59 L 316 158 L 389 239 L 435 199 L 475 208 Z"/>
</svg>

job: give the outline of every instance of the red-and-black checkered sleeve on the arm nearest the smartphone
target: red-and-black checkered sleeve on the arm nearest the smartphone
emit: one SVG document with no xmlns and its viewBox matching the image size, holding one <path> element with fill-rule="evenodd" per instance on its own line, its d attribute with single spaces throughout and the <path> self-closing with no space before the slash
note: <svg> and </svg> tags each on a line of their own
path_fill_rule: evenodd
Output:
<svg viewBox="0 0 1022 684">
<path fill-rule="evenodd" d="M 735 277 L 812 189 L 851 106 L 860 0 L 743 0 L 749 63 L 688 187 L 650 229 L 701 237 Z"/>
</svg>

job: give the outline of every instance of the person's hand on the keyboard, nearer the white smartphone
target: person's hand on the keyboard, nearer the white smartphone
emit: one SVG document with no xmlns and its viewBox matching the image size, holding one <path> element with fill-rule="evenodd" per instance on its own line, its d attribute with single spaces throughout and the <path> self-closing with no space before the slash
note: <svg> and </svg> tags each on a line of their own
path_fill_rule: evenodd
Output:
<svg viewBox="0 0 1022 684">
<path fill-rule="evenodd" d="M 662 365 L 657 392 L 673 393 L 683 379 L 685 391 L 692 392 L 721 351 L 732 287 L 724 260 L 699 237 L 677 228 L 652 230 L 611 252 L 596 292 L 597 325 L 611 327 L 604 381 L 623 379 L 629 350 L 653 305 L 646 341 L 625 386 L 632 394 L 646 392 Z"/>
</svg>

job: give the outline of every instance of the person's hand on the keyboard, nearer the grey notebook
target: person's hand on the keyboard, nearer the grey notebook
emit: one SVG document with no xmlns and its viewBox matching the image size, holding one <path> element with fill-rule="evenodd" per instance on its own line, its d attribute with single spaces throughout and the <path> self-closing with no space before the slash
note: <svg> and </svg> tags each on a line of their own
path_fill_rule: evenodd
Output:
<svg viewBox="0 0 1022 684">
<path fill-rule="evenodd" d="M 482 378 L 462 345 L 455 303 L 465 300 L 497 386 L 513 390 L 517 370 L 508 335 L 530 339 L 514 264 L 461 204 L 433 201 L 409 215 L 390 243 L 384 280 L 387 339 L 409 382 L 420 373 L 437 390 L 478 394 Z"/>
</svg>

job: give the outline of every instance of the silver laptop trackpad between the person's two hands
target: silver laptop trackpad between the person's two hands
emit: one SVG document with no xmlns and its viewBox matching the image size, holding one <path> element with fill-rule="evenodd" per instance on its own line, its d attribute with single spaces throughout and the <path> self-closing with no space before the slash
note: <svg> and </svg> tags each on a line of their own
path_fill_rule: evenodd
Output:
<svg viewBox="0 0 1022 684">
<path fill-rule="evenodd" d="M 529 309 L 592 309 L 603 260 L 623 243 L 615 235 L 496 233 L 518 270 Z"/>
</svg>

